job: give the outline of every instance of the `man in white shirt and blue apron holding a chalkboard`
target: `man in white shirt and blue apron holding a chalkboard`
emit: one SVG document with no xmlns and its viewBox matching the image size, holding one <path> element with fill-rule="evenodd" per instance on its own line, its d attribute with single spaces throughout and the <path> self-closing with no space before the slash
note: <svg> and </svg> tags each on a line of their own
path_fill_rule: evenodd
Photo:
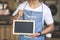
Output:
<svg viewBox="0 0 60 40">
<path fill-rule="evenodd" d="M 18 13 L 17 13 L 18 12 Z M 35 21 L 35 34 L 32 35 L 20 35 L 18 40 L 44 40 L 44 34 L 47 34 L 54 30 L 54 22 L 51 15 L 51 11 L 40 0 L 28 0 L 20 4 L 17 10 L 13 13 L 13 16 L 23 16 L 24 20 Z M 44 28 L 44 21 L 48 25 Z"/>
</svg>

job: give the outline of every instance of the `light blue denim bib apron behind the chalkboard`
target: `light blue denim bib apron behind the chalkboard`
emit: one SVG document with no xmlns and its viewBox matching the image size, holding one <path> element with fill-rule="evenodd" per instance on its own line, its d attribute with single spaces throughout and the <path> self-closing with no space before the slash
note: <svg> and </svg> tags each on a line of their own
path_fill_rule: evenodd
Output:
<svg viewBox="0 0 60 40">
<path fill-rule="evenodd" d="M 41 32 L 43 30 L 43 12 L 35 12 L 24 10 L 23 13 L 23 20 L 34 20 L 35 21 L 35 32 Z M 20 35 L 18 40 L 44 40 L 44 35 L 30 38 L 26 37 L 25 35 Z"/>
</svg>

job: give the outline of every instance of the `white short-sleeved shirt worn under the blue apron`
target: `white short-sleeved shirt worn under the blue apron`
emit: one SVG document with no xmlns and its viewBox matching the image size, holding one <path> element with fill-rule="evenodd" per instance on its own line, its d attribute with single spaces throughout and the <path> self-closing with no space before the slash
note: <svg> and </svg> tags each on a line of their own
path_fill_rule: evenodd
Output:
<svg viewBox="0 0 60 40">
<path fill-rule="evenodd" d="M 30 11 L 36 11 L 36 12 L 43 12 L 43 17 L 44 20 L 46 22 L 47 25 L 52 24 L 53 23 L 53 18 L 51 15 L 51 11 L 49 9 L 49 7 L 47 5 L 45 5 L 44 3 L 41 3 L 39 7 L 33 9 L 29 6 L 28 1 L 23 2 L 22 4 L 20 4 L 17 8 L 17 10 L 13 13 L 13 16 L 15 16 L 19 10 L 30 10 Z"/>
</svg>

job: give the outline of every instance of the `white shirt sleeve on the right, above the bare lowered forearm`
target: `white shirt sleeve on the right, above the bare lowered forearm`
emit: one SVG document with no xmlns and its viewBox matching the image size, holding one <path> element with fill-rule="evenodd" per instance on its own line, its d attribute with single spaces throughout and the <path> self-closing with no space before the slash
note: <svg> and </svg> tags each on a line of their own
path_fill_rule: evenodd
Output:
<svg viewBox="0 0 60 40">
<path fill-rule="evenodd" d="M 45 22 L 46 22 L 47 25 L 54 23 L 51 10 L 47 6 L 44 9 L 44 20 L 45 20 Z"/>
</svg>

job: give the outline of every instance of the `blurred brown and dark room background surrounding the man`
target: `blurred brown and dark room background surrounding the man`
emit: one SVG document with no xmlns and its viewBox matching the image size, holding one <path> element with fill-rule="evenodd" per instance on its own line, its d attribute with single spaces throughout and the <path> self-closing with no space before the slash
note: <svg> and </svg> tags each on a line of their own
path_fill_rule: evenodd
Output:
<svg viewBox="0 0 60 40">
<path fill-rule="evenodd" d="M 12 14 L 17 6 L 26 0 L 0 0 L 0 40 L 18 40 L 18 35 L 13 35 Z M 60 40 L 60 0 L 43 0 L 51 9 L 55 30 L 46 34 L 46 40 Z"/>
</svg>

